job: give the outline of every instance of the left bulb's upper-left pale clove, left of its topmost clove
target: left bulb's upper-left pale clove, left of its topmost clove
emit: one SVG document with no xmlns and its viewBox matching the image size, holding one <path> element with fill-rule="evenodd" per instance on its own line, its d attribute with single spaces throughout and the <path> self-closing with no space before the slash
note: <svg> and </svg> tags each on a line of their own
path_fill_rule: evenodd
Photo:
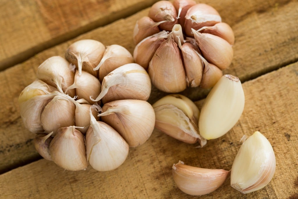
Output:
<svg viewBox="0 0 298 199">
<path fill-rule="evenodd" d="M 53 56 L 46 59 L 37 68 L 37 78 L 64 93 L 74 83 L 75 73 L 66 59 L 60 56 Z M 67 94 L 74 97 L 75 90 L 68 90 Z"/>
</svg>

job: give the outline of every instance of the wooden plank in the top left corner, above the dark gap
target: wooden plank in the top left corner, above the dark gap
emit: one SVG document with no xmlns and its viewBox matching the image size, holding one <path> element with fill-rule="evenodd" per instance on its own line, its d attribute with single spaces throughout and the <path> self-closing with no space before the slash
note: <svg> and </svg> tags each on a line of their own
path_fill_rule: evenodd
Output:
<svg viewBox="0 0 298 199">
<path fill-rule="evenodd" d="M 4 0 L 0 2 L 0 70 L 158 0 Z"/>
</svg>

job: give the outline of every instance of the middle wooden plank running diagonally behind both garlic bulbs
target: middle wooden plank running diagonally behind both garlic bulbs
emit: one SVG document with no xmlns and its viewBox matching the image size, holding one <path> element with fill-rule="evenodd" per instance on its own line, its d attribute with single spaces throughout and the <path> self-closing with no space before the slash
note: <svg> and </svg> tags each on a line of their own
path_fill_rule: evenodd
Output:
<svg viewBox="0 0 298 199">
<path fill-rule="evenodd" d="M 237 3 L 235 2 L 236 7 Z M 217 4 L 217 7 L 221 6 L 220 1 Z M 260 4 L 262 4 L 261 1 Z M 242 3 L 239 5 L 242 5 Z M 254 7 L 257 7 L 257 1 L 254 2 Z M 260 75 L 264 71 L 274 70 L 297 60 L 298 31 L 296 31 L 297 23 L 294 23 L 298 20 L 297 7 L 297 1 L 290 1 L 281 5 L 278 9 L 273 7 L 269 8 L 268 11 L 248 12 L 247 15 L 243 15 L 242 20 L 233 26 L 237 41 L 234 45 L 235 58 L 225 73 L 236 74 L 244 81 Z M 228 4 L 226 8 L 230 8 Z M 241 12 L 244 13 L 245 11 L 246 8 L 243 6 Z M 102 41 L 105 45 L 119 44 L 132 53 L 134 50 L 132 41 L 134 24 L 138 18 L 147 14 L 148 9 L 105 27 L 95 29 L 74 40 L 45 50 L 24 63 L 0 73 L 0 85 L 2 86 L 2 92 L 0 93 L 2 99 L 0 101 L 0 135 L 2 138 L 0 172 L 15 168 L 15 166 L 24 164 L 26 160 L 37 157 L 37 153 L 32 146 L 34 136 L 24 129 L 21 123 L 17 98 L 21 90 L 36 78 L 35 72 L 38 65 L 50 56 L 63 56 L 69 44 L 83 38 L 96 39 Z M 264 29 L 264 27 L 266 28 Z M 276 29 L 278 34 L 269 37 L 265 33 L 270 32 L 272 27 L 279 28 Z M 107 35 L 109 36 L 108 39 L 106 38 Z M 273 50 L 268 51 L 268 47 L 272 47 Z M 197 100 L 203 98 L 207 92 L 208 90 L 188 89 L 183 94 Z M 149 102 L 153 103 L 164 95 L 166 94 L 153 88 Z M 15 145 L 20 147 L 14 148 Z"/>
</svg>

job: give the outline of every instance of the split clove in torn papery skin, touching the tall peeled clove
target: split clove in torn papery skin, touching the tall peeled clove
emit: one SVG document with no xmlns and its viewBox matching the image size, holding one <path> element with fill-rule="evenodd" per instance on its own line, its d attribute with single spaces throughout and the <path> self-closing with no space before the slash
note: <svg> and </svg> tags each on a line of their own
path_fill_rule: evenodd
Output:
<svg viewBox="0 0 298 199">
<path fill-rule="evenodd" d="M 203 147 L 207 141 L 198 132 L 199 110 L 187 97 L 179 94 L 167 95 L 156 101 L 155 127 L 177 140 Z"/>
</svg>

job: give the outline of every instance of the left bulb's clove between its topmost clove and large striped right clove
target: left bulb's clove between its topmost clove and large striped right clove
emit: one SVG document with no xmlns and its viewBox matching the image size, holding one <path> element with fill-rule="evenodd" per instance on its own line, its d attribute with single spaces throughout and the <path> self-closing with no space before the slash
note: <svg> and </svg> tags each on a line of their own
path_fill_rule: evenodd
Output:
<svg viewBox="0 0 298 199">
<path fill-rule="evenodd" d="M 107 47 L 103 58 L 94 70 L 99 70 L 99 79 L 103 81 L 103 78 L 110 72 L 129 63 L 134 63 L 131 53 L 125 47 L 114 44 Z"/>
</svg>

